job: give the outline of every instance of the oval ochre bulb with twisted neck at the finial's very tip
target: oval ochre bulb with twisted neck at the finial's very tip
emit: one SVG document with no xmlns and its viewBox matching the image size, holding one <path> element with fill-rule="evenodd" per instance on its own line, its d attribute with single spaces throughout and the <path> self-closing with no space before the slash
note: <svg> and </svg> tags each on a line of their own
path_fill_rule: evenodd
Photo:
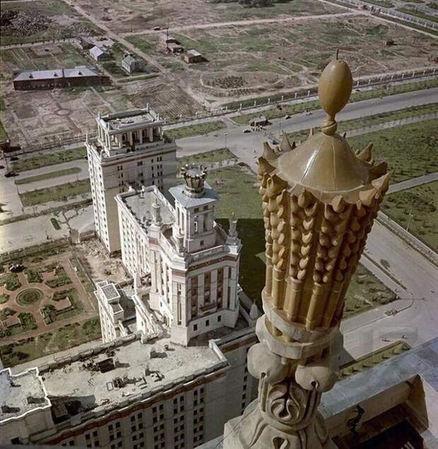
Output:
<svg viewBox="0 0 438 449">
<path fill-rule="evenodd" d="M 353 75 L 350 67 L 346 62 L 334 59 L 326 66 L 319 78 L 319 103 L 327 113 L 326 121 L 321 126 L 324 134 L 329 136 L 335 134 L 338 127 L 335 120 L 336 114 L 348 103 L 352 89 Z"/>
</svg>

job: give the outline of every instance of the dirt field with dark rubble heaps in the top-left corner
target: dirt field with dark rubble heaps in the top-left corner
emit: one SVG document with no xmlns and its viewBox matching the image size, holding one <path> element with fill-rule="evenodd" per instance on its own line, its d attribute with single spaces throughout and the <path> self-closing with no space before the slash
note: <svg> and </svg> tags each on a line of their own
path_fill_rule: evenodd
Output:
<svg viewBox="0 0 438 449">
<path fill-rule="evenodd" d="M 2 16 L 5 11 L 15 11 L 24 21 L 18 27 L 14 26 L 13 20 L 17 17 L 13 17 L 14 13 L 10 13 L 12 23 L 5 20 L 1 24 L 1 45 L 102 33 L 102 30 L 85 20 L 62 0 L 11 1 L 1 4 Z M 30 22 L 27 21 L 29 16 L 26 13 L 25 16 L 21 16 L 22 11 L 32 13 Z M 34 21 L 35 13 L 40 17 L 39 23 Z"/>
</svg>

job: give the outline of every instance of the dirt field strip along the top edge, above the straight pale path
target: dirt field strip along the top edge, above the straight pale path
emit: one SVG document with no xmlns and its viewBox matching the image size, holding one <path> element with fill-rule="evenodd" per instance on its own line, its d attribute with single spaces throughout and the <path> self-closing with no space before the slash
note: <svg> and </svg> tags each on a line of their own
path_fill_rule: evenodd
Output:
<svg viewBox="0 0 438 449">
<path fill-rule="evenodd" d="M 236 3 L 211 3 L 208 0 L 78 0 L 91 16 L 110 25 L 116 33 L 131 33 L 161 28 L 240 21 L 255 18 L 282 18 L 293 14 L 307 16 L 344 11 L 344 8 L 315 0 L 290 0 L 271 8 L 242 8 Z"/>
</svg>

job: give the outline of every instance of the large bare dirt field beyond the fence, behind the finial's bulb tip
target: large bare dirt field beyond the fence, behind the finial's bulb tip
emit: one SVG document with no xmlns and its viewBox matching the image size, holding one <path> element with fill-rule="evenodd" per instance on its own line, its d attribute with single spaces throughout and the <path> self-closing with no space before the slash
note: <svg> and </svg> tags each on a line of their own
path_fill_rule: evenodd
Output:
<svg viewBox="0 0 438 449">
<path fill-rule="evenodd" d="M 309 19 L 290 25 L 183 30 L 175 35 L 186 48 L 195 48 L 208 62 L 183 65 L 155 44 L 155 57 L 178 74 L 197 98 L 214 101 L 316 83 L 330 57 L 341 50 L 355 76 L 432 66 L 438 45 L 432 37 L 371 16 Z M 148 41 L 147 35 L 136 40 Z M 393 39 L 386 47 L 382 40 Z"/>
</svg>

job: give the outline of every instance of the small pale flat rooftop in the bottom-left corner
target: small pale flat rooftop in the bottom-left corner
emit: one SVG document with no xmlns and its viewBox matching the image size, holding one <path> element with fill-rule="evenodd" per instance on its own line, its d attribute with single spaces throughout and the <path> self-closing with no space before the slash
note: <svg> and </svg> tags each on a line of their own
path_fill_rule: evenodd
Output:
<svg viewBox="0 0 438 449">
<path fill-rule="evenodd" d="M 0 371 L 0 422 L 49 405 L 36 368 L 17 375 Z"/>
</svg>

